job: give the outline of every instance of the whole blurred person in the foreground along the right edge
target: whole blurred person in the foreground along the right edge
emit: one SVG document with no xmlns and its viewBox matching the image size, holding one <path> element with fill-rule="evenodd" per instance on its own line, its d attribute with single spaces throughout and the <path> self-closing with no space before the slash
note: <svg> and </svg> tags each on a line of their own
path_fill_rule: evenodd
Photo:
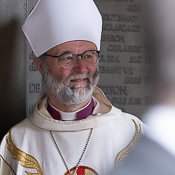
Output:
<svg viewBox="0 0 175 175">
<path fill-rule="evenodd" d="M 155 61 L 155 105 L 143 120 L 150 126 L 113 175 L 175 174 L 175 1 L 150 0 L 148 23 Z"/>
</svg>

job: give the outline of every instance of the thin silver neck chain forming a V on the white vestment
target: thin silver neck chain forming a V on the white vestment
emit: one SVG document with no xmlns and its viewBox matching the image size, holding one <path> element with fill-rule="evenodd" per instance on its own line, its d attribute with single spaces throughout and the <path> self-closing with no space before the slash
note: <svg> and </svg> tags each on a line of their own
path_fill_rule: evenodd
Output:
<svg viewBox="0 0 175 175">
<path fill-rule="evenodd" d="M 63 155 L 62 155 L 62 153 L 61 153 L 61 150 L 60 150 L 60 148 L 58 147 L 58 145 L 57 145 L 57 143 L 56 143 L 56 141 L 55 141 L 55 139 L 54 139 L 54 137 L 53 137 L 52 131 L 50 131 L 50 135 L 51 135 L 52 141 L 53 141 L 53 143 L 54 143 L 54 145 L 55 145 L 55 147 L 56 147 L 56 149 L 57 149 L 57 151 L 58 151 L 58 153 L 59 153 L 59 155 L 60 155 L 60 157 L 61 157 L 61 159 L 62 159 L 62 161 L 63 161 L 63 163 L 64 163 L 64 166 L 66 167 L 67 172 L 69 172 L 69 175 L 75 175 L 75 173 L 77 172 L 78 167 L 79 167 L 80 162 L 81 162 L 81 159 L 82 159 L 82 157 L 83 157 L 83 155 L 84 155 L 84 153 L 85 153 L 85 151 L 86 151 L 86 148 L 87 148 L 87 146 L 88 146 L 89 140 L 90 140 L 90 138 L 91 138 L 92 130 L 93 130 L 93 128 L 91 128 L 91 130 L 90 130 L 90 133 L 89 133 L 89 136 L 88 136 L 88 138 L 87 138 L 86 144 L 85 144 L 85 146 L 84 146 L 83 152 L 82 152 L 82 154 L 81 154 L 81 156 L 80 156 L 80 158 L 79 158 L 79 160 L 78 160 L 78 162 L 77 162 L 77 165 L 76 165 L 76 168 L 75 168 L 75 171 L 73 172 L 73 174 L 71 174 L 70 169 L 68 168 L 68 165 L 67 165 L 66 161 L 65 161 L 64 158 L 63 158 Z"/>
</svg>

